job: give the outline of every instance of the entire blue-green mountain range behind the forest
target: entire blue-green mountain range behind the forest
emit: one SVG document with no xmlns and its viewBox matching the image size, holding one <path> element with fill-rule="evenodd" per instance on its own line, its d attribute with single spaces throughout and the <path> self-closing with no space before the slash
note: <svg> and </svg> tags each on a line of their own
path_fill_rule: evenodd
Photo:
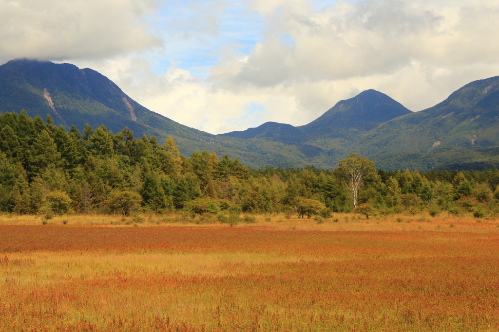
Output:
<svg viewBox="0 0 499 332">
<path fill-rule="evenodd" d="M 258 168 L 331 169 L 351 152 L 383 169 L 483 169 L 499 163 L 499 77 L 471 82 L 427 110 L 411 112 L 375 90 L 339 101 L 314 121 L 266 122 L 213 135 L 144 108 L 105 76 L 71 64 L 29 59 L 0 66 L 0 112 L 25 110 L 67 129 L 104 124 L 136 137 L 172 135 L 184 155 L 228 154 Z"/>
</svg>

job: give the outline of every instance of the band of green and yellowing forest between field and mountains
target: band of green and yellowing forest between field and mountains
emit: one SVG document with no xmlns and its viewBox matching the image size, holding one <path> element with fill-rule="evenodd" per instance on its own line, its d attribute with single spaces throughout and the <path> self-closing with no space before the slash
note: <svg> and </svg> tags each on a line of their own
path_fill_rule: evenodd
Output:
<svg viewBox="0 0 499 332">
<path fill-rule="evenodd" d="M 357 164 L 356 164 L 357 163 Z M 353 168 L 352 168 L 353 165 Z M 359 168 L 358 165 L 361 165 Z M 350 167 L 350 168 L 349 168 Z M 359 169 L 362 173 L 359 174 Z M 353 174 L 352 172 L 357 172 Z M 354 183 L 353 176 L 358 176 Z M 499 171 L 377 170 L 356 154 L 332 170 L 246 167 L 228 155 L 180 154 L 170 136 L 134 137 L 127 127 L 74 125 L 0 114 L 0 211 L 50 219 L 63 214 L 210 215 L 237 222 L 244 213 L 330 218 L 375 215 L 499 214 Z"/>
</svg>

